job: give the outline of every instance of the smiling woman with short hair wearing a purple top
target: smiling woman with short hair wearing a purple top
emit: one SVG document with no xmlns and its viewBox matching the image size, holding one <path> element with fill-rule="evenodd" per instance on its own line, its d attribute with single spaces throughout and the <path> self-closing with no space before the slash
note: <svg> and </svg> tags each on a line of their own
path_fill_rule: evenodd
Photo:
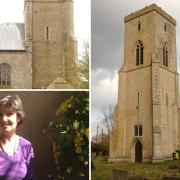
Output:
<svg viewBox="0 0 180 180">
<path fill-rule="evenodd" d="M 31 143 L 16 134 L 24 120 L 21 99 L 6 96 L 0 99 L 0 179 L 34 180 Z"/>
</svg>

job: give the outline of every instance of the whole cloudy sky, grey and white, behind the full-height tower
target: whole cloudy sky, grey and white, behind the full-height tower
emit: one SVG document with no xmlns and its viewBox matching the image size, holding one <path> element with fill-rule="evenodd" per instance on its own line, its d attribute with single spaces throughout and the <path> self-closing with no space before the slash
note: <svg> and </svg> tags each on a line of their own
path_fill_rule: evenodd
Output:
<svg viewBox="0 0 180 180">
<path fill-rule="evenodd" d="M 92 135 L 95 135 L 102 118 L 102 107 L 117 102 L 117 75 L 124 53 L 123 18 L 153 3 L 177 21 L 177 59 L 180 66 L 179 0 L 92 0 Z"/>
</svg>

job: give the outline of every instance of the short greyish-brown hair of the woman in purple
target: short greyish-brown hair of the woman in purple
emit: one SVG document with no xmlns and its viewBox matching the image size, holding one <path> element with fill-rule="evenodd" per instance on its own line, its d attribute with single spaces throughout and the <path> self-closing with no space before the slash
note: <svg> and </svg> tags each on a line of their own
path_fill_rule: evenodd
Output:
<svg viewBox="0 0 180 180">
<path fill-rule="evenodd" d="M 22 101 L 18 95 L 8 95 L 3 98 L 0 98 L 0 107 L 1 106 L 11 108 L 12 111 L 14 111 L 17 114 L 17 116 L 19 117 L 17 126 L 19 126 L 24 121 L 25 113 L 23 111 Z"/>
</svg>

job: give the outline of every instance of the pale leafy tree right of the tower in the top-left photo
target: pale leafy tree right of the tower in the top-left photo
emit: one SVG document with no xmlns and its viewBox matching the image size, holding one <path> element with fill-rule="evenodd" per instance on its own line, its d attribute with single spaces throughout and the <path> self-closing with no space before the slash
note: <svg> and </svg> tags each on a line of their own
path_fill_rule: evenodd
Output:
<svg viewBox="0 0 180 180">
<path fill-rule="evenodd" d="M 84 52 L 78 63 L 78 86 L 82 89 L 89 88 L 89 42 L 84 41 Z"/>
</svg>

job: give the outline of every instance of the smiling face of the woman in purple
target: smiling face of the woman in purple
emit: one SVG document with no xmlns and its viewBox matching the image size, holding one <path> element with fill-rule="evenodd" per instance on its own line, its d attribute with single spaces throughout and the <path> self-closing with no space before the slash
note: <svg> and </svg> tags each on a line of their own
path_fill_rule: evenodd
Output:
<svg viewBox="0 0 180 180">
<path fill-rule="evenodd" d="M 17 114 L 9 107 L 0 107 L 0 132 L 16 131 L 18 124 Z"/>
</svg>

